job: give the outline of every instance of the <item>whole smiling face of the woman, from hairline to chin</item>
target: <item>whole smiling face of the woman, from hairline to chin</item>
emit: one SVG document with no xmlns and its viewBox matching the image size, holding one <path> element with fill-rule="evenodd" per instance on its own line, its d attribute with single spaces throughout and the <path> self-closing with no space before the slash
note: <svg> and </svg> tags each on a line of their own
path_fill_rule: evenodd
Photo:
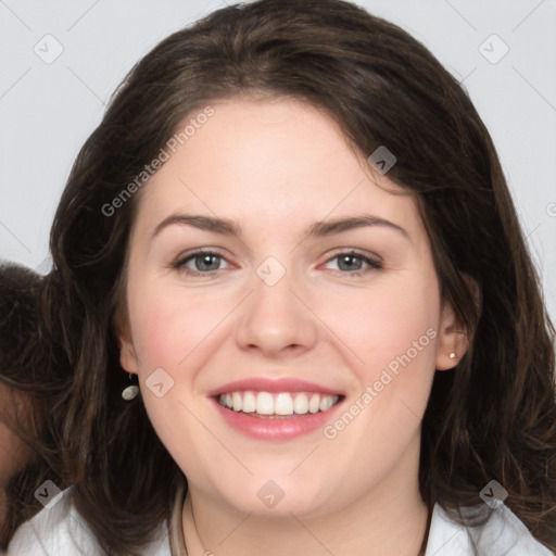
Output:
<svg viewBox="0 0 556 556">
<path fill-rule="evenodd" d="M 121 358 L 157 434 L 193 497 L 244 513 L 416 484 L 455 323 L 415 199 L 312 106 L 212 106 L 130 236 Z"/>
</svg>

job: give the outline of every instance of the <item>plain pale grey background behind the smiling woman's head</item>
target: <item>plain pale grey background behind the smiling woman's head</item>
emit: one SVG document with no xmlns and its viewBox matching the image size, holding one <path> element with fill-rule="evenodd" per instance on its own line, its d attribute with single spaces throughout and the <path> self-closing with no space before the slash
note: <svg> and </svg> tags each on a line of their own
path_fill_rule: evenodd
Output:
<svg viewBox="0 0 556 556">
<path fill-rule="evenodd" d="M 357 3 L 408 30 L 464 83 L 498 150 L 556 320 L 556 0 Z M 55 206 L 110 94 L 155 43 L 224 5 L 0 0 L 1 258 L 48 271 Z"/>
</svg>

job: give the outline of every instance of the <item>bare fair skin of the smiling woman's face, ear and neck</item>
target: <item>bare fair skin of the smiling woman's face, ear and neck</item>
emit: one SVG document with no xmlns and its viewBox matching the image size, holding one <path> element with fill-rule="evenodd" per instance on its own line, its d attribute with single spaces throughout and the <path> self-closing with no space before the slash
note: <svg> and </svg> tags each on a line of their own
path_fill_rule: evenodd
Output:
<svg viewBox="0 0 556 556">
<path fill-rule="evenodd" d="M 122 365 L 139 375 L 150 419 L 188 478 L 188 551 L 417 555 L 427 523 L 421 419 L 434 369 L 452 368 L 448 354 L 466 349 L 441 302 L 417 204 L 381 189 L 403 191 L 313 106 L 285 98 L 212 105 L 215 114 L 140 193 L 119 333 Z M 175 224 L 152 238 L 180 213 L 237 220 L 242 236 Z M 388 226 L 304 238 L 316 220 L 362 213 L 409 239 Z M 217 270 L 188 276 L 172 266 L 198 248 L 223 255 Z M 352 276 L 334 258 L 351 249 L 383 268 L 355 260 L 368 271 Z M 256 274 L 268 256 L 286 269 L 271 287 Z M 194 258 L 187 267 L 203 271 Z M 320 429 L 253 440 L 206 397 L 232 380 L 299 377 L 344 392 L 348 407 L 430 328 L 435 339 L 333 440 Z M 156 368 L 175 381 L 162 397 L 144 384 Z M 285 493 L 273 508 L 257 496 L 269 479 Z"/>
</svg>

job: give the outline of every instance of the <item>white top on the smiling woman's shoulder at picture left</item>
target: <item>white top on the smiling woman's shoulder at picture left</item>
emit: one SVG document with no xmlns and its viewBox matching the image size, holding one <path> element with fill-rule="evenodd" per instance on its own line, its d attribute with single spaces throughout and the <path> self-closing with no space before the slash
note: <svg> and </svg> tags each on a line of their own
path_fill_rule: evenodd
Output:
<svg viewBox="0 0 556 556">
<path fill-rule="evenodd" d="M 72 501 L 72 488 L 51 501 L 33 519 L 23 523 L 8 547 L 7 556 L 75 556 L 103 554 L 86 520 Z M 166 527 L 161 527 L 159 540 L 144 547 L 144 556 L 169 556 Z"/>
</svg>

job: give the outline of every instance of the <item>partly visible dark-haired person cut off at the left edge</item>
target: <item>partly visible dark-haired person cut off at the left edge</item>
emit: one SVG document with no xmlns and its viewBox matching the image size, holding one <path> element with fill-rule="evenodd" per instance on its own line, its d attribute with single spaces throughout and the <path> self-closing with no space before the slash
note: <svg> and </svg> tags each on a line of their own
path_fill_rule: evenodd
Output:
<svg viewBox="0 0 556 556">
<path fill-rule="evenodd" d="M 67 363 L 41 318 L 46 280 L 16 264 L 0 265 L 0 551 L 42 509 L 45 482 L 63 486 L 55 393 Z M 67 386 L 67 382 L 65 383 Z"/>
</svg>

